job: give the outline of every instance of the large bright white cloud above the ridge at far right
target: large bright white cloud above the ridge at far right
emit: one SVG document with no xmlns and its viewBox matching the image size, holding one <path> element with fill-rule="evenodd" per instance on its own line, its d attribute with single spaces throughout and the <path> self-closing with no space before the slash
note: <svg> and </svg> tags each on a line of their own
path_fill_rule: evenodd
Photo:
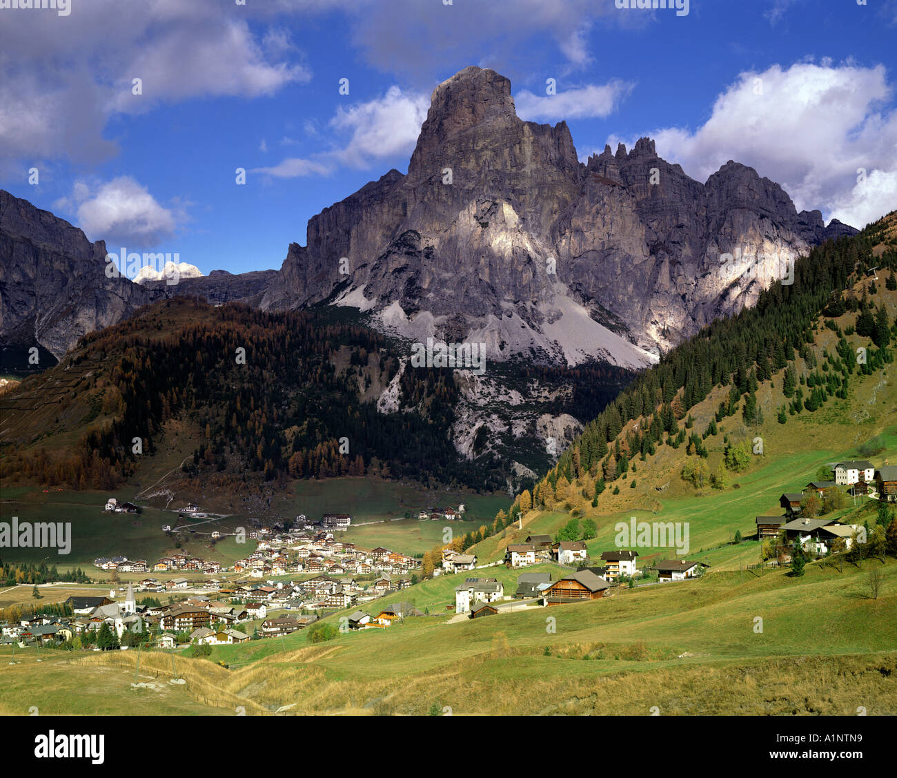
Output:
<svg viewBox="0 0 897 778">
<path fill-rule="evenodd" d="M 805 62 L 743 73 L 701 127 L 651 135 L 661 156 L 696 179 L 727 160 L 743 162 L 781 184 L 798 210 L 819 208 L 826 219 L 861 227 L 895 205 L 897 110 L 881 65 Z M 858 188 L 860 168 L 867 183 Z"/>
</svg>

